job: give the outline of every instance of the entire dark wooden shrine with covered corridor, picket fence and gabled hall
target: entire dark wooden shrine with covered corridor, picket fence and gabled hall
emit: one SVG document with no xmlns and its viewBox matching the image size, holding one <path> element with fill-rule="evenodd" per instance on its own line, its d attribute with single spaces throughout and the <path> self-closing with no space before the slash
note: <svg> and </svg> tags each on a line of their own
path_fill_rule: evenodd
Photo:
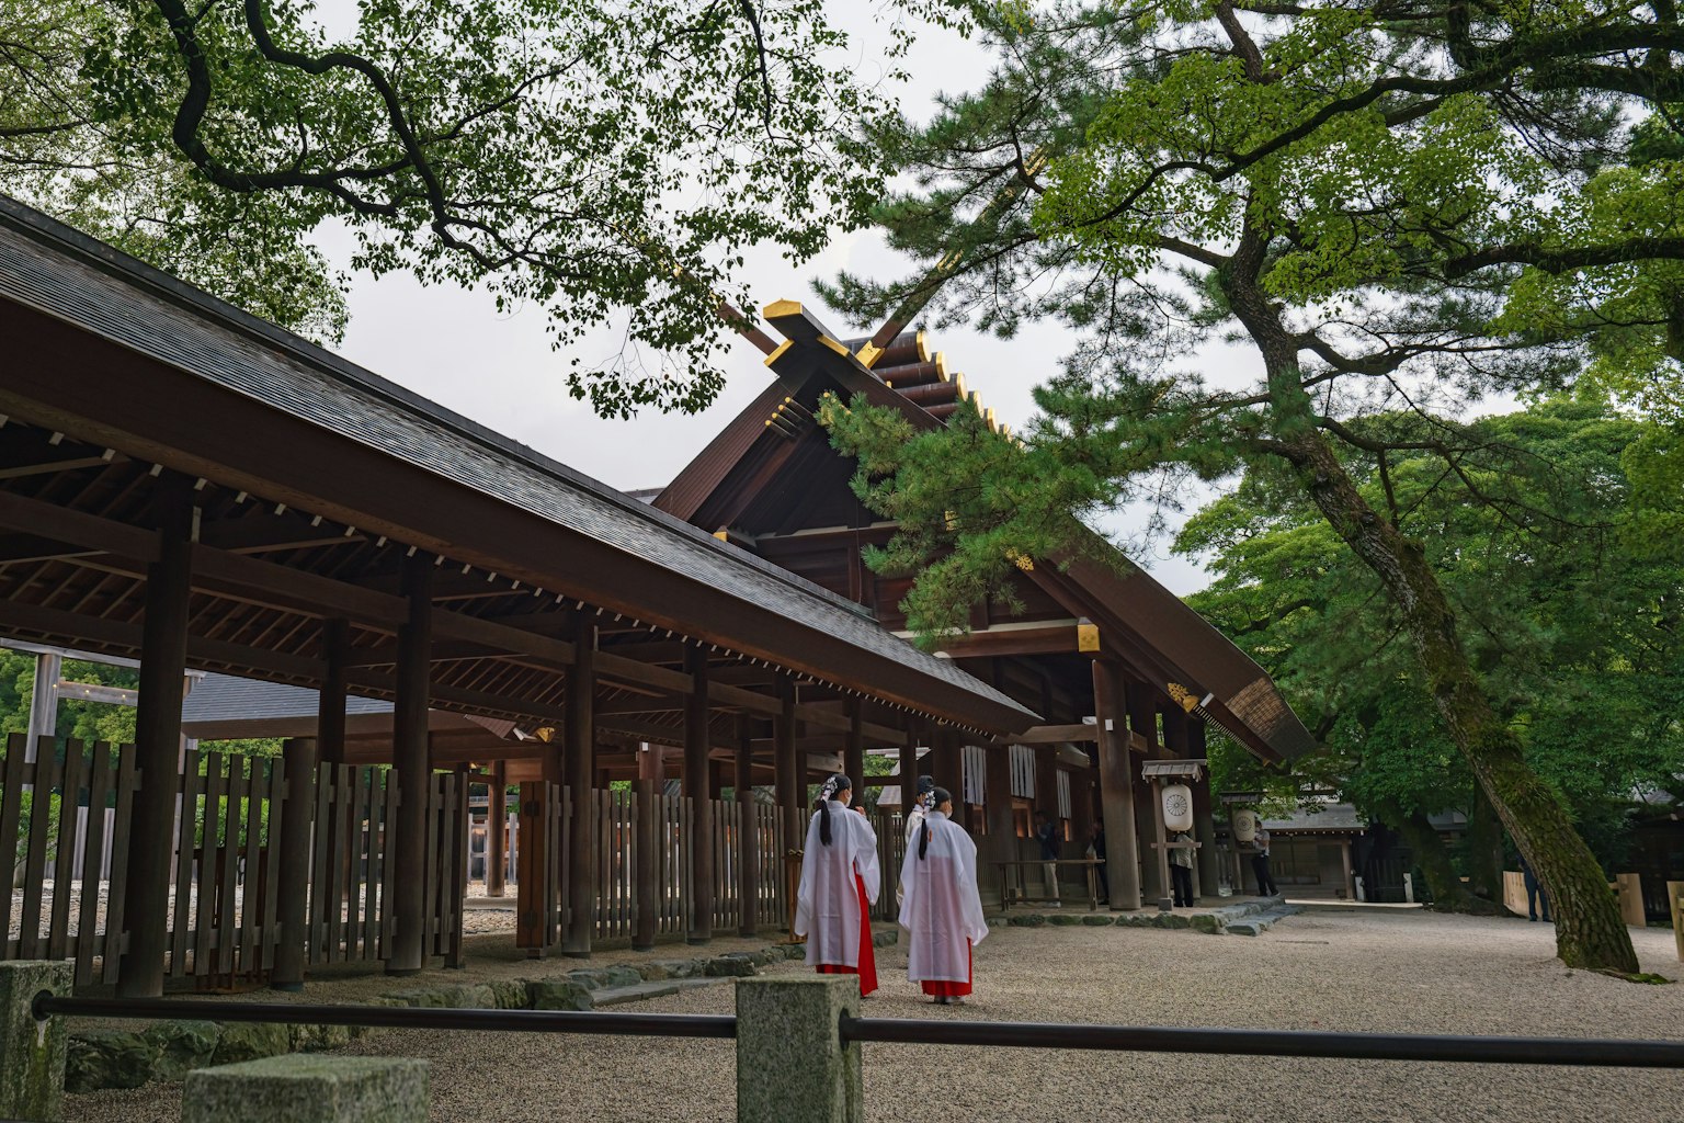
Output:
<svg viewBox="0 0 1684 1123">
<path fill-rule="evenodd" d="M 121 995 L 413 973 L 466 955 L 470 872 L 515 876 L 530 955 L 771 934 L 808 785 L 867 754 L 962 796 L 995 901 L 1037 892 L 1046 812 L 1157 907 L 1182 785 L 1201 891 L 1233 884 L 1207 729 L 1310 744 L 1268 677 L 1127 562 L 1034 566 L 914 648 L 812 412 L 936 426 L 963 386 L 921 335 L 766 320 L 766 392 L 632 497 L 0 197 L 0 636 L 140 663 L 133 746 L 7 742 L 3 955 Z M 199 749 L 246 736 L 283 754 Z"/>
</svg>

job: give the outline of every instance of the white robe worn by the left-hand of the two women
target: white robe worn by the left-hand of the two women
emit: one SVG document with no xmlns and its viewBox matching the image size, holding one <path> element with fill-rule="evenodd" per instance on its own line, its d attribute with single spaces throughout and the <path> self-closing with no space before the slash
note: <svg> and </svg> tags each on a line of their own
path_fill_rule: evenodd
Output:
<svg viewBox="0 0 1684 1123">
<path fill-rule="evenodd" d="M 882 870 L 877 869 L 877 832 L 859 812 L 830 801 L 830 845 L 818 840 L 813 812 L 807 823 L 807 849 L 802 852 L 802 889 L 795 904 L 795 934 L 807 936 L 807 965 L 820 963 L 859 968 L 859 887 L 877 899 Z"/>
</svg>

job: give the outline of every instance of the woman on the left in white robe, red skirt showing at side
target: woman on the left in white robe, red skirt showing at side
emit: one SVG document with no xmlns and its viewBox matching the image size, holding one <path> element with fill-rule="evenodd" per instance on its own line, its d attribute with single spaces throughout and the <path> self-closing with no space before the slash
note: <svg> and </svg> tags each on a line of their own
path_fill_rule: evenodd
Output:
<svg viewBox="0 0 1684 1123">
<path fill-rule="evenodd" d="M 854 785 L 832 776 L 818 791 L 802 854 L 795 934 L 807 936 L 807 963 L 820 975 L 859 975 L 861 997 L 877 988 L 871 948 L 871 902 L 877 899 L 877 832 L 849 810 Z"/>
</svg>

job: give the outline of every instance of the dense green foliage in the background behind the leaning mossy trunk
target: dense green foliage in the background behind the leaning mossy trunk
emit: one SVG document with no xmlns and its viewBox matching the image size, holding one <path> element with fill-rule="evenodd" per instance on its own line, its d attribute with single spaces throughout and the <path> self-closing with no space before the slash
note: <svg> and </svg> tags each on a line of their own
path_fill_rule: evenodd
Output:
<svg viewBox="0 0 1684 1123">
<path fill-rule="evenodd" d="M 1391 468 L 1396 502 L 1450 586 L 1499 716 L 1613 869 L 1633 793 L 1684 796 L 1677 571 L 1623 534 L 1632 487 L 1620 466 L 1644 426 L 1553 399 L 1479 429 L 1492 444 L 1467 468 L 1500 487 L 1504 505 L 1463 502 L 1431 458 Z M 1381 490 L 1374 475 L 1362 483 Z M 1322 732 L 1300 778 L 1374 813 L 1468 810 L 1472 778 L 1398 641 L 1393 603 L 1300 495 L 1250 473 L 1187 522 L 1177 551 L 1216 572 L 1191 603 Z"/>
</svg>

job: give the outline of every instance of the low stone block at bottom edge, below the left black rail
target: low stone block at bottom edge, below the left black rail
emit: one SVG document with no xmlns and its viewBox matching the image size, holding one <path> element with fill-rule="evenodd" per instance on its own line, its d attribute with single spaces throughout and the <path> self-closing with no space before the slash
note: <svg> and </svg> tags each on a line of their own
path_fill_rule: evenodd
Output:
<svg viewBox="0 0 1684 1123">
<path fill-rule="evenodd" d="M 428 1064 L 295 1052 L 195 1069 L 182 1123 L 424 1123 Z"/>
</svg>

